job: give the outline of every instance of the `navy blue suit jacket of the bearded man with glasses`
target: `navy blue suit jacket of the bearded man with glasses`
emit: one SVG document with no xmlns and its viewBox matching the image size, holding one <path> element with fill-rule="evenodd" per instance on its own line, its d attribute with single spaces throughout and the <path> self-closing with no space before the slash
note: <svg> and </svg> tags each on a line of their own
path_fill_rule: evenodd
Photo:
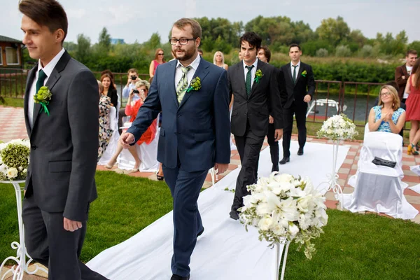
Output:
<svg viewBox="0 0 420 280">
<path fill-rule="evenodd" d="M 187 172 L 208 170 L 217 163 L 230 162 L 229 94 L 226 71 L 203 58 L 194 77 L 200 90 L 186 92 L 181 104 L 176 100 L 177 60 L 160 64 L 151 88 L 132 127 L 136 141 L 162 111 L 158 161 Z M 135 142 L 134 142 L 135 143 Z"/>
</svg>

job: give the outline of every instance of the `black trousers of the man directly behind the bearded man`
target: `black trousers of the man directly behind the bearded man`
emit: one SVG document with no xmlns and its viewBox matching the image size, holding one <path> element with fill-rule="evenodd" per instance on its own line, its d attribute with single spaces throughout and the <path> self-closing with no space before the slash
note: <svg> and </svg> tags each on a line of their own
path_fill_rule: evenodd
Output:
<svg viewBox="0 0 420 280">
<path fill-rule="evenodd" d="M 265 136 L 258 136 L 246 123 L 244 136 L 235 136 L 235 143 L 241 158 L 241 171 L 239 172 L 235 197 L 233 198 L 232 211 L 237 211 L 244 206 L 243 197 L 249 195 L 246 186 L 255 183 L 255 169 L 258 167 L 258 159 Z"/>
</svg>

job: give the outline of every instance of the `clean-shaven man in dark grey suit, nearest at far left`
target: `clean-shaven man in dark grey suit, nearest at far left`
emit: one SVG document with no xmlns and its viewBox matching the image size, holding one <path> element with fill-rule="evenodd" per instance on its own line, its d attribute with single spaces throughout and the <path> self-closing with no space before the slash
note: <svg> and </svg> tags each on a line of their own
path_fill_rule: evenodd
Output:
<svg viewBox="0 0 420 280">
<path fill-rule="evenodd" d="M 93 73 L 62 48 L 67 18 L 55 0 L 20 1 L 23 43 L 38 64 L 29 71 L 25 123 L 31 141 L 22 218 L 27 252 L 48 279 L 106 279 L 78 256 L 90 202 L 97 197 L 99 92 Z M 34 96 L 45 86 L 52 97 Z"/>
</svg>

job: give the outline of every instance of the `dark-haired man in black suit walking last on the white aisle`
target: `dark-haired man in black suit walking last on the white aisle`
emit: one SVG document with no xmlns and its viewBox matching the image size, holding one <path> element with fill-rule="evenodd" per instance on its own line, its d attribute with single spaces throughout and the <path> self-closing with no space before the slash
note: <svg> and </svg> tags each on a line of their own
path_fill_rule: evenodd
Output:
<svg viewBox="0 0 420 280">
<path fill-rule="evenodd" d="M 300 61 L 302 50 L 300 45 L 292 44 L 289 47 L 290 63 L 281 66 L 287 101 L 283 104 L 284 132 L 283 132 L 283 159 L 281 165 L 290 161 L 290 139 L 292 137 L 293 115 L 296 117 L 299 150 L 297 155 L 303 155 L 306 143 L 306 113 L 308 102 L 311 101 L 315 91 L 314 72 L 312 67 Z"/>
</svg>

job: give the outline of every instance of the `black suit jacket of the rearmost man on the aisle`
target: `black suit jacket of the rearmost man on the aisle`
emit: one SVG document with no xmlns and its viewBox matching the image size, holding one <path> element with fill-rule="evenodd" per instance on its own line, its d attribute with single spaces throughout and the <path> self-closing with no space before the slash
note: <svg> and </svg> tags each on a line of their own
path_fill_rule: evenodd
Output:
<svg viewBox="0 0 420 280">
<path fill-rule="evenodd" d="M 282 100 L 284 109 L 289 109 L 293 102 L 297 106 L 307 104 L 303 101 L 304 96 L 309 94 L 312 99 L 315 92 L 314 72 L 312 71 L 312 67 L 310 65 L 300 62 L 299 73 L 297 73 L 296 76 L 296 83 L 293 83 L 293 76 L 290 68 L 290 63 L 281 66 L 281 72 L 284 76 L 286 92 L 288 95 L 286 100 Z M 303 71 L 307 71 L 305 76 L 302 75 Z"/>
</svg>

